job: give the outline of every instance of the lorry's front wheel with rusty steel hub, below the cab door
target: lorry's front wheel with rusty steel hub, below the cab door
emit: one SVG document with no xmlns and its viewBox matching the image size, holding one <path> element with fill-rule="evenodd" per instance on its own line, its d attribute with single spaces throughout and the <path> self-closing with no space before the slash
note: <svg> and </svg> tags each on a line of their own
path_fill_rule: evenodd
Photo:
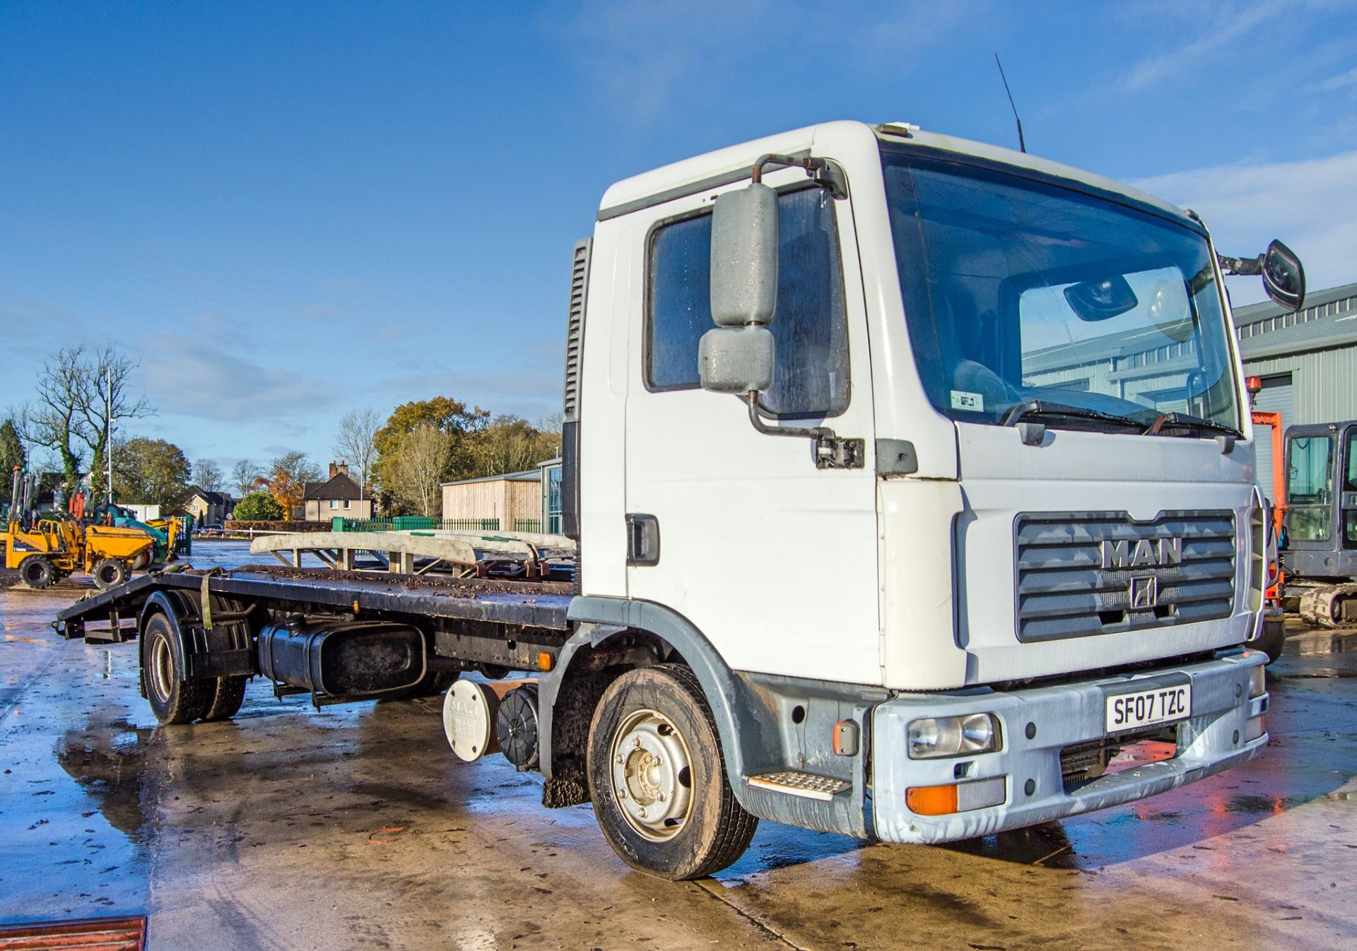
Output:
<svg viewBox="0 0 1357 951">
<path fill-rule="evenodd" d="M 650 875 L 718 872 L 759 828 L 735 800 L 711 708 L 681 665 L 631 670 L 612 682 L 589 726 L 588 772 L 608 844 Z"/>
</svg>

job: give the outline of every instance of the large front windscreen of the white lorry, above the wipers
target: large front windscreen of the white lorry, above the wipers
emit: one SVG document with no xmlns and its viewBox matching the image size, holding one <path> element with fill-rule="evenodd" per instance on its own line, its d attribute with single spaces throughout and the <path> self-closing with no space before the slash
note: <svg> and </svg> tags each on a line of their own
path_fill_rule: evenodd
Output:
<svg viewBox="0 0 1357 951">
<path fill-rule="evenodd" d="M 1196 419 L 1238 430 L 1202 232 L 1001 170 L 882 155 L 911 343 L 939 411 L 977 423 L 1035 411 L 1080 429 L 1170 433 Z"/>
</svg>

